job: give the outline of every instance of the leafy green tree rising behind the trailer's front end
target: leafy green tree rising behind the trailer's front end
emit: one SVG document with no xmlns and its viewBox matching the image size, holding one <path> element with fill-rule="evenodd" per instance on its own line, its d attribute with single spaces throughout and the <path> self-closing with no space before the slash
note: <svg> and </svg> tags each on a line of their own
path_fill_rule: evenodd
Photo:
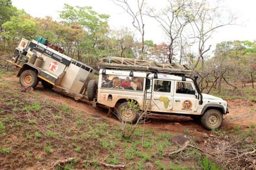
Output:
<svg viewBox="0 0 256 170">
<path fill-rule="evenodd" d="M 71 27 L 72 35 L 69 35 L 77 60 L 87 60 L 90 64 L 99 54 L 99 46 L 108 31 L 108 15 L 98 14 L 90 6 L 70 6 L 64 4 L 64 10 L 60 11 L 62 24 Z M 61 24 L 60 23 L 60 24 Z"/>
</svg>

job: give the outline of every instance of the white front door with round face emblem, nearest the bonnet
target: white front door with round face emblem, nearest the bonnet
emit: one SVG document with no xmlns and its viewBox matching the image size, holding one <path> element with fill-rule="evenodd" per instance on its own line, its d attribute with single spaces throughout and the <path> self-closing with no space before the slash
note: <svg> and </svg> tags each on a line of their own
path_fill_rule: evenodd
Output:
<svg viewBox="0 0 256 170">
<path fill-rule="evenodd" d="M 189 81 L 175 81 L 173 97 L 174 113 L 196 113 L 198 100 L 195 95 L 195 87 Z"/>
</svg>

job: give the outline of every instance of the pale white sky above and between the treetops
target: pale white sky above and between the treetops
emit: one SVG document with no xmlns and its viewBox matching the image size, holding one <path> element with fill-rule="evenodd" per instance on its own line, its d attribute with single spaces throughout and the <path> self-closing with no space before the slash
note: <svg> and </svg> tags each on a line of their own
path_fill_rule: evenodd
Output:
<svg viewBox="0 0 256 170">
<path fill-rule="evenodd" d="M 137 2 L 135 0 L 131 0 Z M 164 0 L 149 0 L 149 5 L 155 8 L 161 8 Z M 25 12 L 32 17 L 51 16 L 54 20 L 59 18 L 58 11 L 63 10 L 64 4 L 71 6 L 92 6 L 93 10 L 99 14 L 110 15 L 108 24 L 111 29 L 120 29 L 128 27 L 134 30 L 131 24 L 131 18 L 119 6 L 116 6 L 111 0 L 12 0 L 12 5 L 18 9 L 24 9 Z M 213 33 L 209 44 L 213 49 L 215 45 L 222 41 L 233 40 L 256 40 L 256 1 L 255 0 L 223 0 L 222 6 L 225 6 L 238 17 L 236 25 L 228 25 L 220 28 L 217 32 Z M 153 20 L 153 19 L 152 19 Z M 145 40 L 153 40 L 154 43 L 160 44 L 167 42 L 166 36 L 155 21 L 145 21 Z M 140 37 L 138 37 L 139 39 Z M 213 50 L 212 49 L 212 50 Z"/>
</svg>

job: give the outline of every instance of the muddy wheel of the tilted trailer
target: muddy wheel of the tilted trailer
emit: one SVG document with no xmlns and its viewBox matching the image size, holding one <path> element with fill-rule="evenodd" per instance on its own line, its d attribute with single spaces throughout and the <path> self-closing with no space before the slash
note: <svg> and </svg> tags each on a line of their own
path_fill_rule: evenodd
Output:
<svg viewBox="0 0 256 170">
<path fill-rule="evenodd" d="M 25 70 L 20 75 L 20 84 L 22 87 L 36 87 L 38 84 L 38 77 L 35 71 Z"/>
</svg>

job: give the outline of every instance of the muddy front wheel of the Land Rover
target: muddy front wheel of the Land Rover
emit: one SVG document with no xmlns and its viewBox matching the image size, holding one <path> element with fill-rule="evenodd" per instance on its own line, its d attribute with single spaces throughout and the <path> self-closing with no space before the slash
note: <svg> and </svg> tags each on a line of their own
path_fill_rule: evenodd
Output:
<svg viewBox="0 0 256 170">
<path fill-rule="evenodd" d="M 209 109 L 203 114 L 201 123 L 207 130 L 219 129 L 223 122 L 223 115 L 219 110 Z"/>
</svg>

